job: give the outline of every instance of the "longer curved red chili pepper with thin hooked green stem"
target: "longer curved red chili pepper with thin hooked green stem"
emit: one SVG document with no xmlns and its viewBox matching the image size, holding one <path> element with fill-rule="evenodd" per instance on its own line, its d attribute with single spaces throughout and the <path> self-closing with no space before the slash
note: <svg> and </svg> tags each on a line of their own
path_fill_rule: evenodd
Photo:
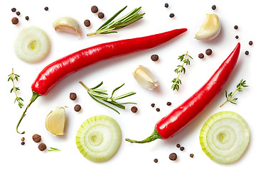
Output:
<svg viewBox="0 0 256 170">
<path fill-rule="evenodd" d="M 47 67 L 45 67 L 38 77 L 33 82 L 31 89 L 33 96 L 28 103 L 25 111 L 21 115 L 20 120 L 16 126 L 18 132 L 18 125 L 26 115 L 26 111 L 31 103 L 33 103 L 38 96 L 46 96 L 59 81 L 67 77 L 69 74 L 78 72 L 80 69 L 87 67 L 90 64 L 107 60 L 114 57 L 131 54 L 132 52 L 139 52 L 152 47 L 163 44 L 186 32 L 186 28 L 170 30 L 165 33 L 149 35 L 142 38 L 132 38 L 127 40 L 119 40 L 114 42 L 107 42 L 100 45 L 85 48 L 71 55 L 61 58 Z M 20 132 L 18 132 L 20 133 Z M 21 132 L 23 134 L 25 132 Z"/>
</svg>

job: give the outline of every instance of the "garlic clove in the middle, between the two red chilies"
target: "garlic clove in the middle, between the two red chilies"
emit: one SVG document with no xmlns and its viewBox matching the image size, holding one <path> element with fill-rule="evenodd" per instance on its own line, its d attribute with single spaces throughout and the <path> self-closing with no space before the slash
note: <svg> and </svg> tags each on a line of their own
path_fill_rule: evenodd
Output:
<svg viewBox="0 0 256 170">
<path fill-rule="evenodd" d="M 139 65 L 139 67 L 132 74 L 134 79 L 146 89 L 153 90 L 159 86 L 154 74 L 152 74 L 149 69 L 142 65 Z"/>
</svg>

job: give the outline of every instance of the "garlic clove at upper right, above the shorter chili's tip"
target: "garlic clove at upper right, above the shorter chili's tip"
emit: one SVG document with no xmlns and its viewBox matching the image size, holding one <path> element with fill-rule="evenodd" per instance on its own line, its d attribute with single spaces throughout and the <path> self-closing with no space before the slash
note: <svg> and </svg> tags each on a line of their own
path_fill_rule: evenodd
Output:
<svg viewBox="0 0 256 170">
<path fill-rule="evenodd" d="M 206 20 L 200 26 L 195 38 L 197 40 L 213 40 L 218 36 L 221 24 L 216 14 L 206 14 Z"/>
</svg>

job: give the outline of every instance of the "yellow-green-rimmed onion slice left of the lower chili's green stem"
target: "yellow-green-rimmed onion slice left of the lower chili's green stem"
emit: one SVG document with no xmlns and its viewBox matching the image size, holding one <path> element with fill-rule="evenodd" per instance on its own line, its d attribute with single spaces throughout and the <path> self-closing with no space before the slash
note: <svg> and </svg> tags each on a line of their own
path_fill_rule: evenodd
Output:
<svg viewBox="0 0 256 170">
<path fill-rule="evenodd" d="M 86 159 L 91 162 L 107 162 L 121 145 L 122 131 L 113 118 L 95 115 L 82 123 L 75 142 Z"/>
</svg>

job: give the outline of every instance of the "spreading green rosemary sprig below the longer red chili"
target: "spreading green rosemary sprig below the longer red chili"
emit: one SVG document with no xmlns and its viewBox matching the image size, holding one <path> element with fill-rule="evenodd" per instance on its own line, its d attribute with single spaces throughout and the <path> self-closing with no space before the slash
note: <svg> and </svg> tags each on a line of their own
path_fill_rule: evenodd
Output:
<svg viewBox="0 0 256 170">
<path fill-rule="evenodd" d="M 110 108 L 112 109 L 113 111 L 119 113 L 116 109 L 112 108 L 111 106 L 103 103 L 102 101 L 105 101 L 106 103 L 110 103 L 112 104 L 113 106 L 116 106 L 117 108 L 122 108 L 122 109 L 125 109 L 125 106 L 124 104 L 136 104 L 136 103 L 132 103 L 132 102 L 126 102 L 126 103 L 117 103 L 117 100 L 121 99 L 121 98 L 126 98 L 128 96 L 132 96 L 134 94 L 136 94 L 135 92 L 129 92 L 127 94 L 122 94 L 121 96 L 117 96 L 117 97 L 114 97 L 114 92 L 117 91 L 118 89 L 120 89 L 122 86 L 124 86 L 124 84 L 122 84 L 121 86 L 118 86 L 117 88 L 115 88 L 113 91 L 112 91 L 112 94 L 110 97 L 107 97 L 107 91 L 106 90 L 101 90 L 101 89 L 97 89 L 98 87 L 100 87 L 103 82 L 101 81 L 100 84 L 98 84 L 97 86 L 89 89 L 87 86 L 85 86 L 85 84 L 82 83 L 82 81 L 79 81 L 79 83 L 87 90 L 87 93 L 89 94 L 89 96 L 94 100 L 96 101 L 97 103 L 100 103 L 102 104 L 103 106 L 106 106 L 107 108 Z M 99 101 L 97 100 L 100 99 L 102 101 Z"/>
</svg>

